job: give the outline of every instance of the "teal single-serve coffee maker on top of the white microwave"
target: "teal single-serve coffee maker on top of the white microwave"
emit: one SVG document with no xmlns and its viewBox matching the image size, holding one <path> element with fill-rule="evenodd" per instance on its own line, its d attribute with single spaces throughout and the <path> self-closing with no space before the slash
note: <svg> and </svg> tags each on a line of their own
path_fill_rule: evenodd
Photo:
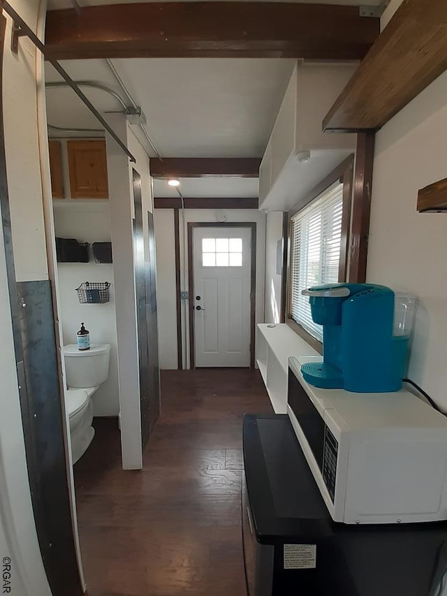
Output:
<svg viewBox="0 0 447 596">
<path fill-rule="evenodd" d="M 332 284 L 303 290 L 323 325 L 323 362 L 301 367 L 322 388 L 358 393 L 398 391 L 406 365 L 415 299 L 376 284 Z"/>
</svg>

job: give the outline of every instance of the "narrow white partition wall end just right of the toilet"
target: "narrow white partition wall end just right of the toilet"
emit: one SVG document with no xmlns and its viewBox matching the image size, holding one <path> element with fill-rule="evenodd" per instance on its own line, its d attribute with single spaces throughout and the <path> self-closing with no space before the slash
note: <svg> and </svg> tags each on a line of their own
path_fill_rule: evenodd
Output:
<svg viewBox="0 0 447 596">
<path fill-rule="evenodd" d="M 142 467 L 140 373 L 133 268 L 133 187 L 132 169 L 142 184 L 142 210 L 145 259 L 148 260 L 147 211 L 152 210 L 152 179 L 149 158 L 133 135 L 123 115 L 108 117 L 112 129 L 129 147 L 136 163 L 131 163 L 116 141 L 106 134 L 110 221 L 115 272 L 115 318 L 119 409 L 121 413 L 122 459 L 125 470 Z"/>
</svg>

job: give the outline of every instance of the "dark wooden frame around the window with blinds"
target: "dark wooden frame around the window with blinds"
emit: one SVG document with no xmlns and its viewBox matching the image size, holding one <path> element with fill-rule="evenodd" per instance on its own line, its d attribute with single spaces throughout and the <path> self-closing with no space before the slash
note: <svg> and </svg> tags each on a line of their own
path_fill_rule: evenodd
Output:
<svg viewBox="0 0 447 596">
<path fill-rule="evenodd" d="M 304 198 L 288 211 L 288 225 L 287 225 L 287 269 L 286 269 L 286 324 L 295 333 L 300 335 L 310 346 L 312 346 L 318 354 L 323 354 L 323 344 L 316 340 L 313 335 L 307 332 L 304 327 L 297 323 L 291 317 L 291 221 L 302 209 L 307 207 L 310 203 L 315 201 L 321 194 L 328 189 L 337 180 L 343 184 L 343 213 L 342 213 L 342 243 L 340 249 L 340 263 L 339 263 L 339 282 L 346 282 L 348 279 L 348 255 L 349 255 L 349 229 L 351 226 L 351 203 L 352 203 L 352 189 L 353 189 L 353 168 L 354 156 L 351 155 L 340 163 L 335 170 L 324 178 L 319 184 L 312 189 Z"/>
</svg>

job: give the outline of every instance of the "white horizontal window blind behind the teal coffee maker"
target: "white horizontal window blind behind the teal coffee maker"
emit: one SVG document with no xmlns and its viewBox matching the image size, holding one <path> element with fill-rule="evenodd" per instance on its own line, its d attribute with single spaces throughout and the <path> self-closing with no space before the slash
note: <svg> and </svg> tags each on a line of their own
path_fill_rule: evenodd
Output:
<svg viewBox="0 0 447 596">
<path fill-rule="evenodd" d="M 291 220 L 291 317 L 320 341 L 323 328 L 301 291 L 338 282 L 342 215 L 343 184 L 336 182 Z"/>
</svg>

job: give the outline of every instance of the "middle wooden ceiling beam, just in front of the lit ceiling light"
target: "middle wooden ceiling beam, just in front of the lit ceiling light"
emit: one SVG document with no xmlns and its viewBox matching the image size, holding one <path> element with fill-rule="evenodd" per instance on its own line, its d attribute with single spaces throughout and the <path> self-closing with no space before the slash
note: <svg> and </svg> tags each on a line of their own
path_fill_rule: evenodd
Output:
<svg viewBox="0 0 447 596">
<path fill-rule="evenodd" d="M 154 178 L 258 178 L 260 163 L 258 157 L 163 157 L 151 158 L 150 170 Z"/>
</svg>

